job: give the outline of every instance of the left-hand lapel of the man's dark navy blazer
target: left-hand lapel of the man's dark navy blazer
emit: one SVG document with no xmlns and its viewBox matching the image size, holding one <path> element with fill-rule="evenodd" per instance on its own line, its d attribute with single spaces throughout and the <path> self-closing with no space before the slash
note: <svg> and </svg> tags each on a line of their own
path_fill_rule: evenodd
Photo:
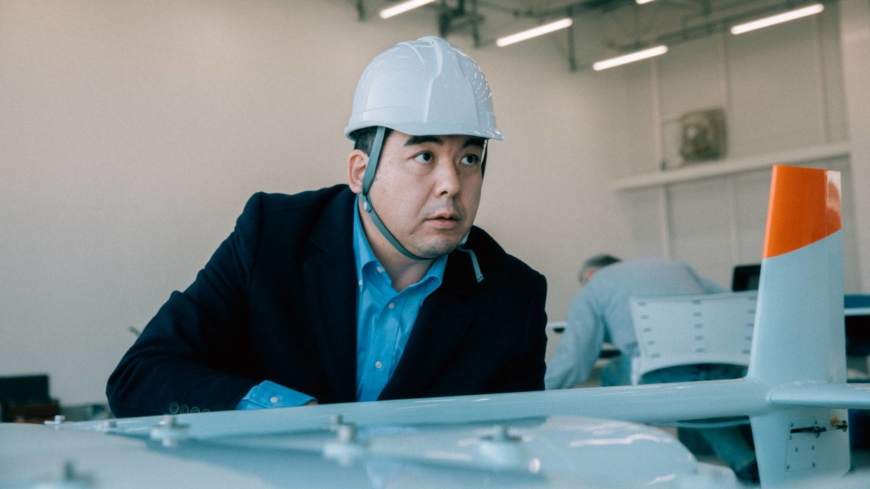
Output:
<svg viewBox="0 0 870 489">
<path fill-rule="evenodd" d="M 356 400 L 357 278 L 353 197 L 344 191 L 324 209 L 303 265 L 305 292 L 335 402 Z"/>
</svg>

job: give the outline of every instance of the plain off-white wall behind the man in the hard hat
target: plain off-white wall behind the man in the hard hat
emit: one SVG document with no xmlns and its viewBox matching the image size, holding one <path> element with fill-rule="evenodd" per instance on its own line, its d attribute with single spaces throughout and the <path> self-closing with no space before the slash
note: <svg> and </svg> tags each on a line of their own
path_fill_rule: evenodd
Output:
<svg viewBox="0 0 870 489">
<path fill-rule="evenodd" d="M 366 63 L 434 12 L 358 22 L 344 1 L 0 0 L 0 375 L 48 372 L 67 404 L 105 380 L 259 190 L 345 180 Z M 611 209 L 621 76 L 574 75 L 547 40 L 474 50 L 506 134 L 478 223 L 550 282 L 633 254 Z"/>
</svg>

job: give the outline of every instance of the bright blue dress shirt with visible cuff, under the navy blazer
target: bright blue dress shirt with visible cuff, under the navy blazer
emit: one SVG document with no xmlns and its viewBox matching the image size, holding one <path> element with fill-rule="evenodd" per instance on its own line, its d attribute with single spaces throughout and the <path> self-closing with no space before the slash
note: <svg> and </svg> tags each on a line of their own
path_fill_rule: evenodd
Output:
<svg viewBox="0 0 870 489">
<path fill-rule="evenodd" d="M 396 370 L 417 313 L 426 297 L 441 286 L 447 255 L 437 258 L 419 282 L 397 292 L 392 279 L 372 252 L 359 205 L 354 201 L 353 252 L 357 284 L 357 401 L 375 401 Z M 301 406 L 311 396 L 271 381 L 248 391 L 236 409 Z"/>
</svg>

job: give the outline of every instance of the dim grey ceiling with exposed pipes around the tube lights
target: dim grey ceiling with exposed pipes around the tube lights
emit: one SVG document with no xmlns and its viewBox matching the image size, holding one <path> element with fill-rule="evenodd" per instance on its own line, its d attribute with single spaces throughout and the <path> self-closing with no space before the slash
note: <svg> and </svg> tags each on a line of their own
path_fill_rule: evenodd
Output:
<svg viewBox="0 0 870 489">
<path fill-rule="evenodd" d="M 402 0 L 403 1 L 403 0 Z M 832 3 L 835 0 L 821 0 Z M 348 0 L 361 19 L 377 16 L 400 0 Z M 424 7 L 442 37 L 467 36 L 477 47 L 499 37 L 571 17 L 574 25 L 548 35 L 542 46 L 564 53 L 567 65 L 587 69 L 593 61 L 658 44 L 673 46 L 709 36 L 736 23 L 818 3 L 813 0 L 436 0 Z M 389 19 L 401 22 L 402 15 Z"/>
</svg>

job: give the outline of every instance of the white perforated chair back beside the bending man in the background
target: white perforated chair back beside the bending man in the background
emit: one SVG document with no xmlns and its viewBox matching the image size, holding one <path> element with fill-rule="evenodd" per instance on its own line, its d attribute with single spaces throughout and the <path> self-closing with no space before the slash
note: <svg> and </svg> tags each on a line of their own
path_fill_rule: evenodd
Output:
<svg viewBox="0 0 870 489">
<path fill-rule="evenodd" d="M 758 292 L 632 297 L 637 337 L 631 383 L 666 367 L 698 363 L 749 365 Z"/>
</svg>

